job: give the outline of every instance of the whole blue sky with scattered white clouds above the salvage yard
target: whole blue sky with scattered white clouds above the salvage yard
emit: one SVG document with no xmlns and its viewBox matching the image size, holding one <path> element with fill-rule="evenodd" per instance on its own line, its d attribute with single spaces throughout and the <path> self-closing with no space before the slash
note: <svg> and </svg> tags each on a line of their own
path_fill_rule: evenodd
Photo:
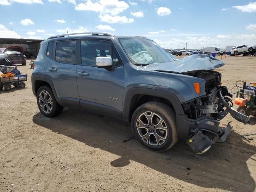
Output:
<svg viewBox="0 0 256 192">
<path fill-rule="evenodd" d="M 164 48 L 256 44 L 252 0 L 0 0 L 0 29 L 22 38 L 104 31 Z"/>
</svg>

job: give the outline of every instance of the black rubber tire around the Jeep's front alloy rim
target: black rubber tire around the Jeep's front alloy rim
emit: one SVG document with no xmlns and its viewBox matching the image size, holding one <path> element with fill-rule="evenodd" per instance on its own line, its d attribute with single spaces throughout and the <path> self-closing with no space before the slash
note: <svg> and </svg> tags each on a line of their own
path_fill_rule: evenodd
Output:
<svg viewBox="0 0 256 192">
<path fill-rule="evenodd" d="M 152 128 L 153 125 L 152 124 L 149 125 L 150 122 L 148 122 L 148 126 L 150 126 L 150 128 L 149 127 L 146 128 L 148 130 L 146 135 L 149 135 L 148 140 L 147 139 L 146 139 L 147 141 L 143 140 L 143 138 L 142 138 L 143 136 L 140 136 L 140 134 L 139 134 L 139 132 L 137 130 L 137 124 L 139 122 L 138 118 L 140 116 L 142 116 L 143 113 L 146 113 L 146 112 L 147 113 L 152 112 L 154 114 L 157 114 L 161 118 L 161 120 L 159 122 L 161 122 L 162 120 L 164 121 L 164 124 L 166 125 L 166 129 L 167 129 L 167 132 L 166 132 L 167 135 L 165 136 L 166 137 L 165 141 L 162 144 L 160 144 L 160 140 L 156 141 L 156 144 L 157 144 L 156 146 L 153 146 L 152 144 L 148 144 L 150 142 L 149 141 L 150 135 L 156 134 L 156 132 L 157 132 L 156 127 Z M 154 114 L 152 114 L 152 117 Z M 158 123 L 158 125 L 159 125 L 159 123 Z M 138 125 L 138 126 L 140 126 L 140 125 Z M 150 130 L 151 128 L 154 129 L 154 131 Z M 176 142 L 178 141 L 177 128 L 176 128 L 176 114 L 175 114 L 174 110 L 172 110 L 172 108 L 170 108 L 168 105 L 166 105 L 162 102 L 147 102 L 147 103 L 139 106 L 134 111 L 134 113 L 132 115 L 132 131 L 142 146 L 144 146 L 150 150 L 154 150 L 154 151 L 158 151 L 158 152 L 166 151 L 166 150 L 172 148 L 172 146 L 174 146 L 174 144 L 176 144 Z M 158 134 L 159 134 L 159 132 L 158 132 Z M 144 137 L 144 139 L 145 139 L 145 137 Z"/>
</svg>

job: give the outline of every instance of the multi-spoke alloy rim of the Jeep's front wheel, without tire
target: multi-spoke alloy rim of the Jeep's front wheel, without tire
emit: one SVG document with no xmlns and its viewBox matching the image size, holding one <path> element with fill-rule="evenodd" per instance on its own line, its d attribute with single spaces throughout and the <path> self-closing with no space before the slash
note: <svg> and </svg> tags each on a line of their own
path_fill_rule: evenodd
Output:
<svg viewBox="0 0 256 192">
<path fill-rule="evenodd" d="M 140 138 L 152 146 L 164 144 L 168 136 L 167 124 L 156 112 L 142 112 L 136 120 L 136 128 Z"/>
</svg>

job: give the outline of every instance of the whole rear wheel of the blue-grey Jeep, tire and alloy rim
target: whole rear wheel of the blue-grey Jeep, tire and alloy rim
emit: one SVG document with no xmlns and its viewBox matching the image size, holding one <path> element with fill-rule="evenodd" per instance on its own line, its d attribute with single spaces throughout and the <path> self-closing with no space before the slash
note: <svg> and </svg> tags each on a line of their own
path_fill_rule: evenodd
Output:
<svg viewBox="0 0 256 192">
<path fill-rule="evenodd" d="M 51 88 L 48 86 L 42 86 L 38 89 L 36 100 L 40 112 L 46 117 L 57 116 L 63 110 L 63 107 L 58 104 Z"/>
</svg>

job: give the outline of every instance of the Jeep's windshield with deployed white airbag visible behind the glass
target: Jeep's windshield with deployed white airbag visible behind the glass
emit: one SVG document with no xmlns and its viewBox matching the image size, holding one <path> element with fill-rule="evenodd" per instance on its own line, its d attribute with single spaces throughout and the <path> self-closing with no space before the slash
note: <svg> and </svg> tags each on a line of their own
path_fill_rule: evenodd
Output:
<svg viewBox="0 0 256 192">
<path fill-rule="evenodd" d="M 147 65 L 152 63 L 172 62 L 167 54 L 156 42 L 144 38 L 124 38 L 119 40 L 127 56 L 133 64 Z"/>
</svg>

